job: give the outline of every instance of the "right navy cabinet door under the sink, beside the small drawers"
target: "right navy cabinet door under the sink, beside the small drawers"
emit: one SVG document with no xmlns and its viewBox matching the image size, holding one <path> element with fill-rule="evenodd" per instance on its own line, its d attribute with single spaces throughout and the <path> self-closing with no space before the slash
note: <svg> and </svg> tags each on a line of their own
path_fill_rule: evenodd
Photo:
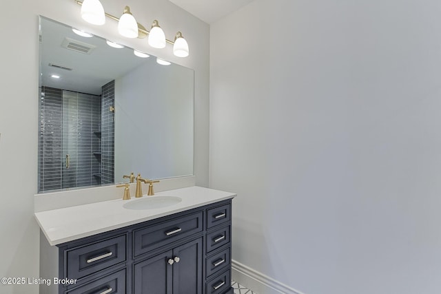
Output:
<svg viewBox="0 0 441 294">
<path fill-rule="evenodd" d="M 173 294 L 202 294 L 202 246 L 199 238 L 173 250 Z"/>
</svg>

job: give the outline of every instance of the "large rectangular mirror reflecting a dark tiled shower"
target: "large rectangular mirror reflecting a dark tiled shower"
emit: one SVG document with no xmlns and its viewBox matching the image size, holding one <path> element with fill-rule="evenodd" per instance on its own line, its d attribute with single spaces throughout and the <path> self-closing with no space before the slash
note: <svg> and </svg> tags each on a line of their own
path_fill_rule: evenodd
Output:
<svg viewBox="0 0 441 294">
<path fill-rule="evenodd" d="M 193 70 L 45 17 L 40 69 L 39 192 L 193 175 Z"/>
</svg>

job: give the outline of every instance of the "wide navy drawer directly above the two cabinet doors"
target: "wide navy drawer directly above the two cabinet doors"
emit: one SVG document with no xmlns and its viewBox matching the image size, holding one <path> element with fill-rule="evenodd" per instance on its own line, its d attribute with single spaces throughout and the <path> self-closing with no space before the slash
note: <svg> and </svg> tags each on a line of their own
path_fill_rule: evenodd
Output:
<svg viewBox="0 0 441 294">
<path fill-rule="evenodd" d="M 134 231 L 134 256 L 201 232 L 202 224 L 203 212 L 201 211 Z"/>
</svg>

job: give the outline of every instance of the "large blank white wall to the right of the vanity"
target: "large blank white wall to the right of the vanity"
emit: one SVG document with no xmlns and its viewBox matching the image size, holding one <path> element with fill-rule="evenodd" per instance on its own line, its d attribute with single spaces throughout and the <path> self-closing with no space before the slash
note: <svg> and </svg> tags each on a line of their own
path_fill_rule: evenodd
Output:
<svg viewBox="0 0 441 294">
<path fill-rule="evenodd" d="M 440 293 L 441 3 L 255 0 L 211 27 L 233 258 L 308 294 Z"/>
</svg>

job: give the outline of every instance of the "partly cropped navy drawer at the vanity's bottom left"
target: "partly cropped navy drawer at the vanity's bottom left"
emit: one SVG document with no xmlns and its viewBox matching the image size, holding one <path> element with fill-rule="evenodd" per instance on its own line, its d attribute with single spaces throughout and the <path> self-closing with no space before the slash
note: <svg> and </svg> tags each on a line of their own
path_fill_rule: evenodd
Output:
<svg viewBox="0 0 441 294">
<path fill-rule="evenodd" d="M 125 269 L 66 292 L 67 294 L 125 294 Z"/>
</svg>

